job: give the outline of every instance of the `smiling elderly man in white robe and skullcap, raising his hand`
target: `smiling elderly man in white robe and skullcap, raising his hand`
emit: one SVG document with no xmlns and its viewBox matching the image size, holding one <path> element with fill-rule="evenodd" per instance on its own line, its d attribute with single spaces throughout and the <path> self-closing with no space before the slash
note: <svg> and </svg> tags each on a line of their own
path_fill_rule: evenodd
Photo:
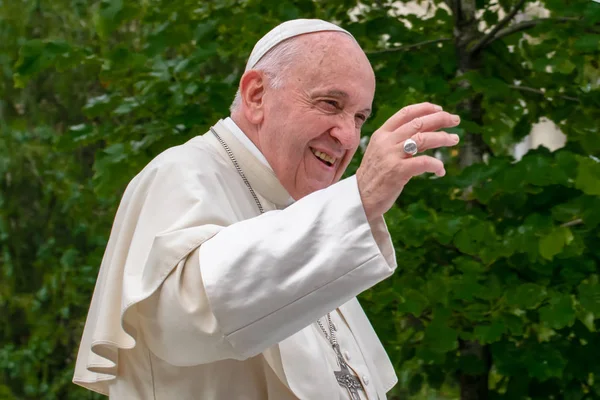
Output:
<svg viewBox="0 0 600 400">
<path fill-rule="evenodd" d="M 340 180 L 375 77 L 353 37 L 288 21 L 255 46 L 231 118 L 128 186 L 74 382 L 115 399 L 377 399 L 397 381 L 355 296 L 390 276 L 383 221 L 458 117 L 400 110 Z M 339 182 L 338 182 L 339 181 Z"/>
</svg>

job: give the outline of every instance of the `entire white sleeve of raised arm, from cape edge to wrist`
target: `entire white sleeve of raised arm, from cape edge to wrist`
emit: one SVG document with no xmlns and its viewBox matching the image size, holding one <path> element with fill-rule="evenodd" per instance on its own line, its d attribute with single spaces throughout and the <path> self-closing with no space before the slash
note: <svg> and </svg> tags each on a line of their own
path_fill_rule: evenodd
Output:
<svg viewBox="0 0 600 400">
<path fill-rule="evenodd" d="M 173 365 L 245 359 L 395 267 L 383 218 L 369 225 L 352 177 L 223 228 L 137 305 L 139 322 L 149 348 Z"/>
</svg>

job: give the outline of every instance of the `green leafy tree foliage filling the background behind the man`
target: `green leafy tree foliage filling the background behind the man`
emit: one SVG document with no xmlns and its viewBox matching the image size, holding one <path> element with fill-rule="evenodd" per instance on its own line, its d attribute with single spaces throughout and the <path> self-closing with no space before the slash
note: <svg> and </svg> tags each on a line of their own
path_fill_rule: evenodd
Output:
<svg viewBox="0 0 600 400">
<path fill-rule="evenodd" d="M 0 0 L 0 398 L 100 397 L 70 382 L 125 185 L 227 116 L 253 44 L 298 17 L 368 53 L 365 136 L 416 102 L 462 117 L 448 176 L 387 215 L 398 272 L 361 296 L 395 395 L 600 398 L 600 4 L 400 3 Z M 516 162 L 542 117 L 566 146 Z"/>
</svg>

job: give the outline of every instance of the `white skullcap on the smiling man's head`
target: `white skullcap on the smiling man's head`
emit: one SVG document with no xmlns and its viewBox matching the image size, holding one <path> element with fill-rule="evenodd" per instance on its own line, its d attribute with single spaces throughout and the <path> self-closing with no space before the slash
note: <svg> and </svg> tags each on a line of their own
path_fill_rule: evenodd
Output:
<svg viewBox="0 0 600 400">
<path fill-rule="evenodd" d="M 250 53 L 250 58 L 248 58 L 246 71 L 254 68 L 256 63 L 260 61 L 260 59 L 267 54 L 269 50 L 284 40 L 294 36 L 303 35 L 305 33 L 324 31 L 343 32 L 354 39 L 354 36 L 352 36 L 352 34 L 347 30 L 342 29 L 331 22 L 320 19 L 294 19 L 291 21 L 286 21 L 271 29 L 269 33 L 256 42 L 254 49 L 252 49 L 252 53 Z"/>
</svg>

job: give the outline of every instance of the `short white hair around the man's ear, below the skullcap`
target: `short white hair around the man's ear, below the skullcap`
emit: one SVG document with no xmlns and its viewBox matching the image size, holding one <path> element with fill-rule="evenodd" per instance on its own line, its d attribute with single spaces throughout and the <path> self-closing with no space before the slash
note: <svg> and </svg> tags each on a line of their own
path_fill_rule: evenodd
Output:
<svg viewBox="0 0 600 400">
<path fill-rule="evenodd" d="M 263 71 L 269 77 L 269 86 L 272 88 L 280 88 L 286 78 L 286 73 L 292 65 L 295 56 L 301 52 L 301 43 L 296 40 L 298 36 L 284 40 L 270 49 L 252 69 Z M 229 107 L 229 111 L 233 113 L 242 104 L 242 95 L 240 88 L 235 94 L 233 103 Z"/>
</svg>

